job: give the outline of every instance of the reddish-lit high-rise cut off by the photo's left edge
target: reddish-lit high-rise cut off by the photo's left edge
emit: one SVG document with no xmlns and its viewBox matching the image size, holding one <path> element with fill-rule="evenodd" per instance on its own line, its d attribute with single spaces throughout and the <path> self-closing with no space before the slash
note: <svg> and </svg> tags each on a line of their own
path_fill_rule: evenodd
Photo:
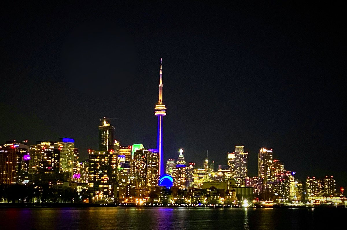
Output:
<svg viewBox="0 0 347 230">
<path fill-rule="evenodd" d="M 0 145 L 0 185 L 16 182 L 16 149 L 13 144 Z"/>
</svg>

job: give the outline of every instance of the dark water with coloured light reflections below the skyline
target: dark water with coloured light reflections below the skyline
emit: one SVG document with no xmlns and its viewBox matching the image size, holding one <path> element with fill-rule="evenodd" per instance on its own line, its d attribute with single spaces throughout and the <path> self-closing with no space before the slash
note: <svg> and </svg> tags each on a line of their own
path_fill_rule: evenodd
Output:
<svg viewBox="0 0 347 230">
<path fill-rule="evenodd" d="M 1 208 L 0 229 L 335 229 L 347 208 Z"/>
</svg>

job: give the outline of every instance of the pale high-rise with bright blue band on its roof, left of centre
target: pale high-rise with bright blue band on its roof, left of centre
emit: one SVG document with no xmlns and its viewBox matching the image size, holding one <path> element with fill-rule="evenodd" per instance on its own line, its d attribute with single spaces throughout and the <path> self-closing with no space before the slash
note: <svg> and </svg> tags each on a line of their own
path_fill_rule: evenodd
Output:
<svg viewBox="0 0 347 230">
<path fill-rule="evenodd" d="M 64 173 L 64 180 L 70 181 L 73 175 L 75 162 L 75 140 L 73 138 L 60 138 L 54 143 L 54 148 L 60 151 L 60 172 Z"/>
</svg>

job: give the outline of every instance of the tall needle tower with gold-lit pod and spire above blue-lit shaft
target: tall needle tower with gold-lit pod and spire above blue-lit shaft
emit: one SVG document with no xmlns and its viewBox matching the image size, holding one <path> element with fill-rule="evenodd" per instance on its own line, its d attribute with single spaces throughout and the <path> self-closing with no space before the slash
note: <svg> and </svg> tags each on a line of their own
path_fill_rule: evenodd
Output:
<svg viewBox="0 0 347 230">
<path fill-rule="evenodd" d="M 158 116 L 158 135 L 156 148 L 159 155 L 159 175 L 163 175 L 164 163 L 163 163 L 163 116 L 166 116 L 166 107 L 163 104 L 163 79 L 162 79 L 162 59 L 160 59 L 160 78 L 159 78 L 159 100 L 154 107 L 154 115 Z"/>
</svg>

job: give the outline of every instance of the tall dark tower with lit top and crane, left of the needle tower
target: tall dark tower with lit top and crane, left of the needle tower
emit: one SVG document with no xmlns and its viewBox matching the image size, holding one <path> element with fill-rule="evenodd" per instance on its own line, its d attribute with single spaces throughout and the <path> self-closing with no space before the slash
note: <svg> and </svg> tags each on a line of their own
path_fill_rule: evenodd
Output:
<svg viewBox="0 0 347 230">
<path fill-rule="evenodd" d="M 115 127 L 107 122 L 107 118 L 101 119 L 102 124 L 99 126 L 99 150 L 110 151 L 114 150 L 114 134 Z"/>
</svg>

